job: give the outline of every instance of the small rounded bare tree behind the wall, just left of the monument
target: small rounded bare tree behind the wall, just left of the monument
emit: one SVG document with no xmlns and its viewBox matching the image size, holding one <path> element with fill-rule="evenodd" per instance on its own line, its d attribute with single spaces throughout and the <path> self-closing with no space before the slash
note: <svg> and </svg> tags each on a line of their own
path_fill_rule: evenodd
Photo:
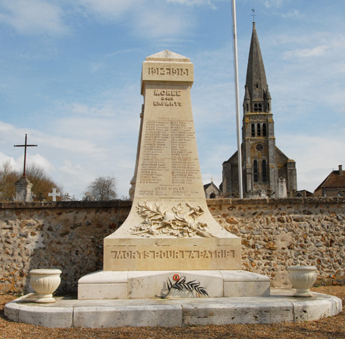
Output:
<svg viewBox="0 0 345 339">
<path fill-rule="evenodd" d="M 113 200 L 116 199 L 116 179 L 112 175 L 107 177 L 97 177 L 86 188 L 86 192 L 91 193 L 95 200 Z"/>
</svg>

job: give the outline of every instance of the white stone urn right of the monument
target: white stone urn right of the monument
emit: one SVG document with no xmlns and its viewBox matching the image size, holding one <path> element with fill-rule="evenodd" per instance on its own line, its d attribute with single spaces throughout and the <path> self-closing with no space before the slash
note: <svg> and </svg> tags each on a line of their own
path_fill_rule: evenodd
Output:
<svg viewBox="0 0 345 339">
<path fill-rule="evenodd" d="M 293 288 L 297 289 L 295 297 L 313 297 L 310 289 L 317 278 L 315 266 L 289 266 L 288 273 Z"/>
</svg>

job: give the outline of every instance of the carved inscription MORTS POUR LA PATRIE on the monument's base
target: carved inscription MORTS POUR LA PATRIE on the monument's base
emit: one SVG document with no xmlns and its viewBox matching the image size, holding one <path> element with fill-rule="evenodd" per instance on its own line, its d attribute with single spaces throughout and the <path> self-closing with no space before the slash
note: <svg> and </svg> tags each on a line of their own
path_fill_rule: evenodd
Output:
<svg viewBox="0 0 345 339">
<path fill-rule="evenodd" d="M 234 250 L 162 250 L 162 251 L 112 251 L 114 259 L 208 259 L 208 258 L 235 258 Z"/>
</svg>

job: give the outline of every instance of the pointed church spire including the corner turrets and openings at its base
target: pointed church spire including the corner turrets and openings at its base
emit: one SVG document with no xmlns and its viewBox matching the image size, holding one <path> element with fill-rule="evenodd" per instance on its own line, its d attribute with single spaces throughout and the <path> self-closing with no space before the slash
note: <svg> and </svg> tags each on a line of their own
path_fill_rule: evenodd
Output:
<svg viewBox="0 0 345 339">
<path fill-rule="evenodd" d="M 248 92 L 248 93 L 247 93 Z M 248 103 L 250 97 L 250 105 Z M 248 57 L 246 76 L 246 95 L 244 97 L 244 113 L 269 112 L 270 93 L 268 91 L 264 61 L 257 38 L 255 22 L 253 22 L 252 39 Z"/>
</svg>

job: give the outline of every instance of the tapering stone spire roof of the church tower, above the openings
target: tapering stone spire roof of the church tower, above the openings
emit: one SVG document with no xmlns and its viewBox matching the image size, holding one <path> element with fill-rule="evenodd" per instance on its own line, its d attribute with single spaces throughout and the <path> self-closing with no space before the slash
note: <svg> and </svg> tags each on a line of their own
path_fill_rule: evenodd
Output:
<svg viewBox="0 0 345 339">
<path fill-rule="evenodd" d="M 250 99 L 253 101 L 264 100 L 264 91 L 267 89 L 267 80 L 259 39 L 257 38 L 255 22 L 253 22 L 252 39 L 250 41 L 246 88 L 248 88 Z"/>
</svg>

